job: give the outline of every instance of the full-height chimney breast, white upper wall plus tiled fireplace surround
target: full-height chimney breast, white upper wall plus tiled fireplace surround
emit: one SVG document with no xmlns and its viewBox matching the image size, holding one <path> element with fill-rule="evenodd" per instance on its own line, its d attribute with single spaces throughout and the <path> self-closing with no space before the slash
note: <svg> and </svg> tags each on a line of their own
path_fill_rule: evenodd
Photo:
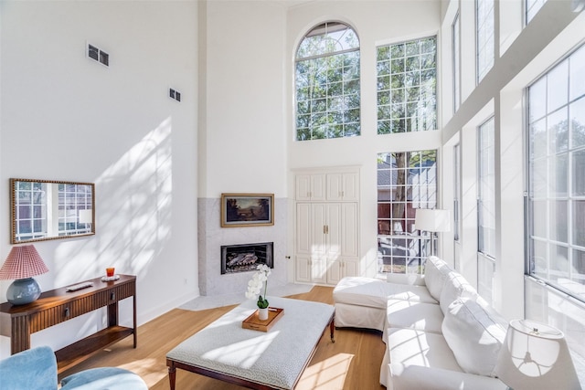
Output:
<svg viewBox="0 0 585 390">
<path fill-rule="evenodd" d="M 199 282 L 203 295 L 244 295 L 250 272 L 220 274 L 222 245 L 274 243 L 270 289 L 287 275 L 284 32 L 281 2 L 199 4 Z M 273 194 L 274 225 L 220 227 L 222 193 Z"/>
</svg>

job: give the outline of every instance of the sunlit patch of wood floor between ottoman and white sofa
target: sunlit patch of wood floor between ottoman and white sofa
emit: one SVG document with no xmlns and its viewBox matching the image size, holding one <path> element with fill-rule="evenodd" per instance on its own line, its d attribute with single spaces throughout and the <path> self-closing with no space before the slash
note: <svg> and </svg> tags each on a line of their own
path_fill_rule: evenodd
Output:
<svg viewBox="0 0 585 390">
<path fill-rule="evenodd" d="M 349 364 L 354 358 L 350 353 L 337 353 L 335 356 L 308 366 L 295 387 L 297 390 L 343 389 L 346 382 L 346 374 L 349 372 Z"/>
</svg>

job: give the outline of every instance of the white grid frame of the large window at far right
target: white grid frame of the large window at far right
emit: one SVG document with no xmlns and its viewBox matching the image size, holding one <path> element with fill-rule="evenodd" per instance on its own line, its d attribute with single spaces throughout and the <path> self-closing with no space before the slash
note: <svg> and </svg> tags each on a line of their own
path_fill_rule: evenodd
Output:
<svg viewBox="0 0 585 390">
<path fill-rule="evenodd" d="M 575 134 L 573 133 L 574 127 L 576 125 L 575 122 L 581 126 L 585 126 L 585 114 L 580 113 L 585 112 L 585 110 L 583 110 L 585 109 L 585 89 L 581 87 L 582 90 L 578 90 L 579 94 L 576 96 L 571 96 L 571 89 L 574 87 L 574 84 L 580 85 L 580 83 L 574 83 L 571 81 L 571 59 L 578 58 L 578 54 L 582 56 L 579 58 L 582 61 L 580 62 L 580 71 L 584 72 L 585 44 L 581 44 L 580 46 L 575 47 L 569 51 L 569 53 L 563 56 L 563 58 L 560 58 L 537 79 L 531 82 L 525 90 L 525 99 L 527 101 L 525 110 L 525 134 L 527 149 L 525 157 L 525 162 L 527 164 L 527 196 L 525 206 L 527 213 L 527 250 L 525 272 L 528 277 L 537 279 L 540 283 L 548 285 L 551 289 L 568 294 L 571 298 L 580 300 L 580 302 L 585 302 L 585 299 L 580 296 L 578 291 L 571 290 L 573 287 L 571 282 L 578 283 L 579 286 L 577 286 L 577 288 L 581 289 L 583 284 L 585 284 L 585 270 L 582 270 L 581 272 L 579 272 L 579 270 L 573 271 L 576 266 L 580 266 L 580 269 L 585 269 L 585 241 L 583 241 L 583 238 L 577 237 L 577 233 L 575 232 L 575 227 L 580 226 L 580 222 L 582 223 L 582 221 L 585 220 L 585 184 L 583 184 L 585 181 L 581 180 L 581 182 L 578 183 L 580 176 L 577 175 L 577 171 L 579 170 L 579 167 L 573 167 L 573 164 L 578 163 L 578 161 L 572 159 L 575 155 L 580 153 L 581 164 L 585 164 L 583 163 L 583 161 L 585 161 L 585 141 L 581 140 L 580 144 L 575 145 L 575 142 L 578 141 L 574 139 Z M 567 88 L 567 95 L 565 96 L 566 100 L 560 105 L 554 105 L 552 108 L 550 108 L 548 107 L 548 104 L 551 103 L 551 101 L 549 101 L 551 98 L 551 95 L 549 94 L 549 87 L 554 86 L 557 88 L 559 83 L 558 80 L 554 79 L 553 82 L 549 82 L 549 77 L 553 76 L 554 72 L 560 69 L 559 67 L 565 66 L 565 64 L 567 66 L 567 78 L 564 79 L 564 81 L 566 81 Z M 585 72 L 575 76 L 585 78 Z M 534 89 L 537 89 L 538 84 L 541 82 L 544 83 L 544 108 L 538 106 L 533 107 L 531 104 L 531 93 Z M 555 92 L 552 93 L 554 94 Z M 543 98 L 540 97 L 540 99 L 535 100 L 535 102 L 540 102 L 542 100 Z M 582 108 L 576 108 L 579 104 L 582 105 Z M 536 113 L 533 117 L 532 111 L 543 111 L 544 114 Z M 551 117 L 553 117 L 553 124 L 557 126 L 560 122 L 557 121 L 555 123 L 554 117 L 562 113 L 561 111 L 566 112 L 566 116 L 564 118 L 566 118 L 567 121 L 567 149 L 566 151 L 559 150 L 557 142 L 558 139 L 555 138 L 555 150 L 553 151 L 551 149 L 551 143 L 549 143 L 551 142 L 551 134 L 549 133 L 551 132 L 551 129 L 549 121 L 551 121 Z M 572 116 L 573 112 L 577 114 L 580 113 L 580 118 L 578 117 L 578 119 L 575 120 L 574 116 Z M 560 116 L 558 116 L 558 118 L 560 118 Z M 533 139 L 533 132 L 536 131 L 535 128 L 540 121 L 544 121 L 545 123 L 545 144 L 544 146 L 540 146 L 540 150 L 538 150 L 537 146 L 534 144 L 535 142 Z M 562 131 L 562 128 L 560 130 Z M 559 134 L 557 131 L 558 129 L 555 129 L 555 137 L 557 137 Z M 585 135 L 584 130 L 581 130 L 581 132 L 583 132 L 583 135 Z M 543 147 L 544 150 L 542 150 Z M 563 154 L 567 156 L 566 168 L 564 169 L 564 174 L 566 174 L 565 183 L 562 181 L 559 182 L 557 164 L 557 157 L 562 156 Z M 546 177 L 544 181 L 540 179 L 538 182 L 537 180 L 542 177 L 542 172 L 538 175 L 537 172 L 535 172 L 535 166 L 537 163 L 542 163 L 542 161 L 545 163 L 544 174 L 546 174 Z M 554 174 L 552 173 L 552 169 L 555 169 Z M 551 185 L 556 185 L 556 191 L 554 194 L 552 193 Z M 566 185 L 565 195 L 562 195 L 562 187 L 559 195 L 558 185 Z M 543 187 L 544 190 L 542 189 Z M 580 191 L 580 193 L 577 193 L 576 191 Z M 552 224 L 558 221 L 556 218 L 558 216 L 559 210 L 557 207 L 553 207 L 553 203 L 556 203 L 555 206 L 558 206 L 558 201 L 565 201 L 567 203 L 567 206 L 565 206 L 564 209 L 567 219 L 565 232 L 558 232 L 557 229 L 549 228 L 552 226 Z M 543 203 L 544 210 L 538 211 L 538 209 L 542 207 L 542 205 L 537 205 L 539 202 Z M 579 215 L 579 210 L 577 209 L 578 204 L 580 204 L 580 210 L 582 213 L 581 215 Z M 553 214 L 555 216 L 554 220 L 551 218 Z M 542 227 L 545 227 L 544 234 Z M 563 239 L 562 236 L 566 236 L 565 239 Z M 557 252 L 554 251 L 555 247 L 557 248 Z M 560 249 L 561 252 L 558 252 L 559 248 L 562 248 Z M 544 258 L 538 256 L 541 253 L 544 254 Z M 566 272 L 564 272 L 562 269 L 555 269 L 559 264 L 558 258 L 562 259 L 562 256 L 565 253 L 567 255 Z M 580 261 L 577 261 L 578 258 Z M 537 263 L 544 263 L 546 267 L 539 267 Z M 555 278 L 555 276 L 557 276 L 557 278 Z M 558 282 L 558 279 L 566 279 L 567 282 L 561 285 L 561 283 Z"/>
</svg>

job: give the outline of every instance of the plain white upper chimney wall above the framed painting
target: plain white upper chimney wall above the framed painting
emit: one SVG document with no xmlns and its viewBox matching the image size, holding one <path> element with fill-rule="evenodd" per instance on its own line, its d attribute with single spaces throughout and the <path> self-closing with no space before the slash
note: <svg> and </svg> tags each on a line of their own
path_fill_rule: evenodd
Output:
<svg viewBox="0 0 585 390">
<path fill-rule="evenodd" d="M 206 69 L 199 197 L 286 196 L 284 15 L 280 2 L 211 1 L 200 52 Z"/>
</svg>

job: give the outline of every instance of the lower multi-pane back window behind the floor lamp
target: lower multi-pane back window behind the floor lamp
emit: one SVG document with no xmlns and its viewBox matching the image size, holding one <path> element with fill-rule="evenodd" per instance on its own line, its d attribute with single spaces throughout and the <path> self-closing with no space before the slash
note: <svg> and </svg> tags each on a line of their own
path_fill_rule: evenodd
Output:
<svg viewBox="0 0 585 390">
<path fill-rule="evenodd" d="M 417 208 L 437 205 L 437 151 L 378 154 L 378 271 L 420 273 L 431 237 L 414 227 Z"/>
</svg>

